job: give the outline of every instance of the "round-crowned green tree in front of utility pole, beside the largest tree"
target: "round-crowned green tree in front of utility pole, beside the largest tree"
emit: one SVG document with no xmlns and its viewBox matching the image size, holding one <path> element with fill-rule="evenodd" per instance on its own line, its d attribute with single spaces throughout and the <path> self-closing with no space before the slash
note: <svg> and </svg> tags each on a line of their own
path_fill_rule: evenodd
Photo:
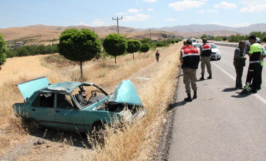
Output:
<svg viewBox="0 0 266 161">
<path fill-rule="evenodd" d="M 109 55 L 115 56 L 116 64 L 116 56 L 122 55 L 126 50 L 125 37 L 115 33 L 107 35 L 103 40 L 103 47 Z"/>
</svg>

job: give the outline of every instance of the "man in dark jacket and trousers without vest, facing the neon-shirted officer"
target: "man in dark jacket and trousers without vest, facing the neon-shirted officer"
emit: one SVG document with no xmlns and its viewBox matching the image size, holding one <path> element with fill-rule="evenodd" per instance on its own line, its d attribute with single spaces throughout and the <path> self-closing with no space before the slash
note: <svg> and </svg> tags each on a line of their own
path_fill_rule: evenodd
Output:
<svg viewBox="0 0 266 161">
<path fill-rule="evenodd" d="M 246 46 L 245 41 L 240 41 L 239 46 L 235 49 L 234 53 L 234 66 L 236 70 L 236 88 L 237 89 L 244 89 L 242 85 L 242 75 L 243 75 L 243 68 L 246 65 L 247 58 L 245 57 L 246 52 L 244 47 Z"/>
</svg>

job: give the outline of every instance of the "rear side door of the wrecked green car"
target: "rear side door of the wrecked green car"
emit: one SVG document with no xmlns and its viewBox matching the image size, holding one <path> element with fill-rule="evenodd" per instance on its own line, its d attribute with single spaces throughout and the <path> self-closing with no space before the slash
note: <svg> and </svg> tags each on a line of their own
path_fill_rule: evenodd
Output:
<svg viewBox="0 0 266 161">
<path fill-rule="evenodd" d="M 28 118 L 33 118 L 45 127 L 57 127 L 54 117 L 55 93 L 38 93 L 28 110 Z"/>
</svg>

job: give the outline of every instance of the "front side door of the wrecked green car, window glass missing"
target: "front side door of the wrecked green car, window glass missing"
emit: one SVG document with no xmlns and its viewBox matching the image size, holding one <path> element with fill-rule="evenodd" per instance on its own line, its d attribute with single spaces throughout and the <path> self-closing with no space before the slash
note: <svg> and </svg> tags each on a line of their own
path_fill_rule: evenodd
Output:
<svg viewBox="0 0 266 161">
<path fill-rule="evenodd" d="M 57 127 L 70 131 L 85 131 L 84 121 L 80 109 L 73 105 L 71 96 L 56 94 L 55 120 Z"/>
</svg>

